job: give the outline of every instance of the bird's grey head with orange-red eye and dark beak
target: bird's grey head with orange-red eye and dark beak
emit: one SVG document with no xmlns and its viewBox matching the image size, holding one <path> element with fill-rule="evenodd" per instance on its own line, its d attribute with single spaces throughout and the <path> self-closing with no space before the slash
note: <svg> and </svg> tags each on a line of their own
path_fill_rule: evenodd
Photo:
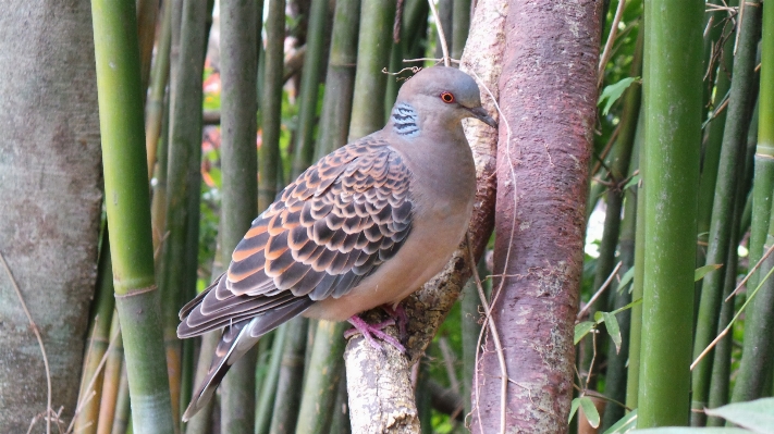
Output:
<svg viewBox="0 0 774 434">
<path fill-rule="evenodd" d="M 401 87 L 393 113 L 402 102 L 420 113 L 431 113 L 442 123 L 475 117 L 497 127 L 497 123 L 481 107 L 481 94 L 476 82 L 454 67 L 434 66 L 418 72 Z"/>
</svg>

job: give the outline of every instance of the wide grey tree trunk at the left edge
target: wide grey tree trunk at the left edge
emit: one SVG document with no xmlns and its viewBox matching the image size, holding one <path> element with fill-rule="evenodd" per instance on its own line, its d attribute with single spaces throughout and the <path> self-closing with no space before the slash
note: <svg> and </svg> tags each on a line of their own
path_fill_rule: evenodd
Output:
<svg viewBox="0 0 774 434">
<path fill-rule="evenodd" d="M 0 251 L 40 331 L 51 405 L 75 411 L 101 211 L 88 1 L 5 2 L 0 14 Z M 0 268 L 0 432 L 46 411 L 33 328 Z M 53 423 L 52 423 L 53 424 Z M 32 430 L 44 432 L 40 419 Z"/>
</svg>

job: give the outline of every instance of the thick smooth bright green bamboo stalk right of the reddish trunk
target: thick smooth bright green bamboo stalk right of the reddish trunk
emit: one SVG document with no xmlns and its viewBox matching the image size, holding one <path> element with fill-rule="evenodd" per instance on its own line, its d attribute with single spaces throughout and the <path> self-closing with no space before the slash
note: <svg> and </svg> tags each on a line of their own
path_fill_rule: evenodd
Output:
<svg viewBox="0 0 774 434">
<path fill-rule="evenodd" d="M 689 420 L 703 8 L 702 0 L 653 0 L 644 9 L 652 32 L 644 67 L 648 236 L 638 427 Z"/>
</svg>

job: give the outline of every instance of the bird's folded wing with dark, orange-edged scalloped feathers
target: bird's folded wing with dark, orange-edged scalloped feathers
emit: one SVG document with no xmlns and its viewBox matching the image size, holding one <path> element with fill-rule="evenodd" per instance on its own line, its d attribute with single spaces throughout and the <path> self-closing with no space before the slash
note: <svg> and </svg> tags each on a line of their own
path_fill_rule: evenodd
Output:
<svg viewBox="0 0 774 434">
<path fill-rule="evenodd" d="M 347 294 L 410 232 L 410 179 L 402 156 L 370 137 L 320 160 L 253 222 L 224 275 L 183 307 L 179 336 Z"/>
</svg>

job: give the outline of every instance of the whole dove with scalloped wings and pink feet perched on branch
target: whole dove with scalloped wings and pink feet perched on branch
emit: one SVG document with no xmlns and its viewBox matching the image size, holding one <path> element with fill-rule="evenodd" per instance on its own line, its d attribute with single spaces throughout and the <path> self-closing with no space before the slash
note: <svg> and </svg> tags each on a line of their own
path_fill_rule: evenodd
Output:
<svg viewBox="0 0 774 434">
<path fill-rule="evenodd" d="M 223 328 L 184 421 L 263 334 L 299 314 L 349 321 L 372 345 L 400 347 L 357 314 L 395 309 L 464 237 L 476 194 L 466 117 L 496 127 L 469 75 L 423 69 L 384 128 L 320 159 L 253 221 L 228 271 L 180 311 L 180 338 Z"/>
</svg>

